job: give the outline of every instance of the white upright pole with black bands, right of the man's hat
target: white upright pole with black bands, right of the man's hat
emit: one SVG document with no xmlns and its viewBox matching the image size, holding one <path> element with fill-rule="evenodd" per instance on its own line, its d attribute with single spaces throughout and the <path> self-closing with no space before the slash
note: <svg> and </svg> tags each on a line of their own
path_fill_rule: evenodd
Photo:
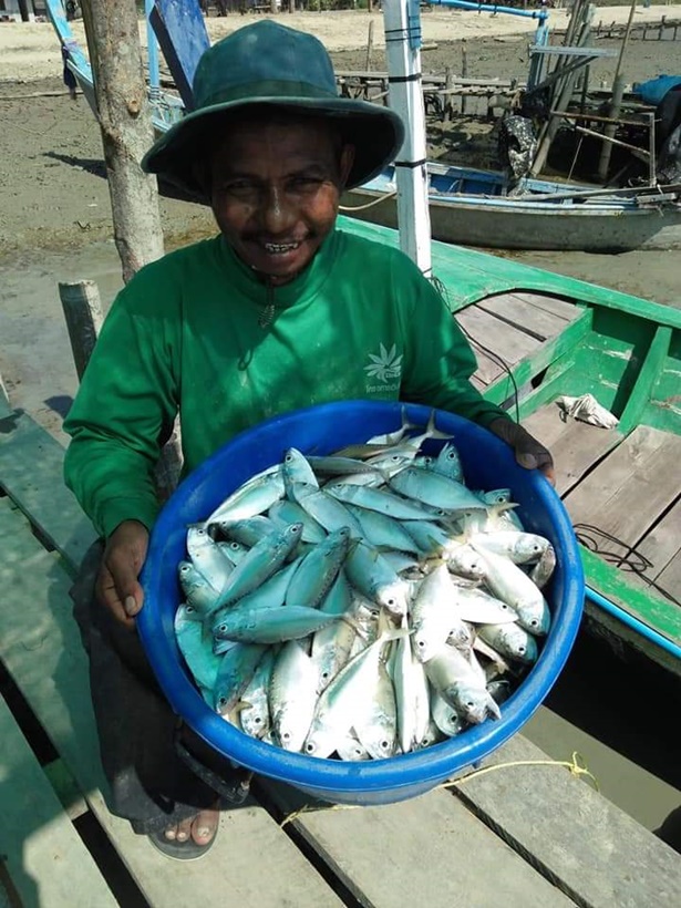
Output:
<svg viewBox="0 0 681 908">
<path fill-rule="evenodd" d="M 427 199 L 425 110 L 421 84 L 419 0 L 383 0 L 389 102 L 404 121 L 406 136 L 395 159 L 400 248 L 431 277 L 431 217 Z"/>
</svg>

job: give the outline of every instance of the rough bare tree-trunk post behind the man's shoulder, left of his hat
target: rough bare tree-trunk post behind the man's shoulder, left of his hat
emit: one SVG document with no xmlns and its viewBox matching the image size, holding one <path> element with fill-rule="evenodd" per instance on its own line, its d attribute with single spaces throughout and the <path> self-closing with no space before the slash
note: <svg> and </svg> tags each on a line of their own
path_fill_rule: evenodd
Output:
<svg viewBox="0 0 681 908">
<path fill-rule="evenodd" d="M 156 177 L 140 162 L 154 141 L 135 0 L 82 0 L 111 195 L 127 282 L 163 255 Z"/>
</svg>

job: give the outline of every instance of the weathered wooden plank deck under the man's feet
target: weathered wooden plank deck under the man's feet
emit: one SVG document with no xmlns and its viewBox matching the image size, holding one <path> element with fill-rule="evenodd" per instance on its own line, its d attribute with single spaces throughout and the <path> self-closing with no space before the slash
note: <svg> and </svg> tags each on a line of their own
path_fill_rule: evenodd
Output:
<svg viewBox="0 0 681 908">
<path fill-rule="evenodd" d="M 491 336 L 506 360 L 513 353 L 522 363 L 581 317 L 564 300 L 516 297 Z M 527 307 L 532 332 L 523 328 Z M 483 301 L 457 318 L 474 331 L 493 318 L 488 309 Z M 481 355 L 476 383 L 488 383 L 494 369 Z M 0 389 L 3 908 L 681 904 L 679 854 L 599 795 L 577 763 L 569 772 L 522 734 L 452 785 L 400 804 L 329 808 L 257 778 L 247 803 L 223 813 L 205 858 L 161 855 L 106 808 L 87 659 L 69 597 L 94 533 L 63 485 L 63 454 Z"/>
</svg>

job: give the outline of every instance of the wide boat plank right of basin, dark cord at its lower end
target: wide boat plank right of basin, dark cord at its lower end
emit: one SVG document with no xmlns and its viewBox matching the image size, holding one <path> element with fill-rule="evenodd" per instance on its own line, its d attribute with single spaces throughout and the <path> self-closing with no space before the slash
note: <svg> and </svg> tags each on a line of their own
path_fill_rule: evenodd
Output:
<svg viewBox="0 0 681 908">
<path fill-rule="evenodd" d="M 634 546 L 681 494 L 681 436 L 640 425 L 565 497 L 575 525 L 595 527 L 599 551 Z M 659 482 L 664 476 L 663 483 Z"/>
</svg>

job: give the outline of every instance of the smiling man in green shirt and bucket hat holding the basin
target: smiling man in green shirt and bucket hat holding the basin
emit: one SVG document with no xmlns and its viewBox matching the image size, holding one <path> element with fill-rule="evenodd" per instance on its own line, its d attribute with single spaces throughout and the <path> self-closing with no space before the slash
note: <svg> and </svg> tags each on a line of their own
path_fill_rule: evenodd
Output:
<svg viewBox="0 0 681 908">
<path fill-rule="evenodd" d="M 105 541 L 74 598 L 112 809 L 178 858 L 213 842 L 215 790 L 233 799 L 241 790 L 229 767 L 218 767 L 225 788 L 177 757 L 175 718 L 134 631 L 158 509 L 152 471 L 176 413 L 185 472 L 274 414 L 358 398 L 456 411 L 524 465 L 551 471 L 548 452 L 470 383 L 471 348 L 419 269 L 337 229 L 343 187 L 398 154 L 395 113 L 338 97 L 322 44 L 270 21 L 208 50 L 194 95 L 143 166 L 203 193 L 220 234 L 147 266 L 120 293 L 65 423 L 66 482 Z M 180 743 L 197 747 L 186 731 Z"/>
</svg>

